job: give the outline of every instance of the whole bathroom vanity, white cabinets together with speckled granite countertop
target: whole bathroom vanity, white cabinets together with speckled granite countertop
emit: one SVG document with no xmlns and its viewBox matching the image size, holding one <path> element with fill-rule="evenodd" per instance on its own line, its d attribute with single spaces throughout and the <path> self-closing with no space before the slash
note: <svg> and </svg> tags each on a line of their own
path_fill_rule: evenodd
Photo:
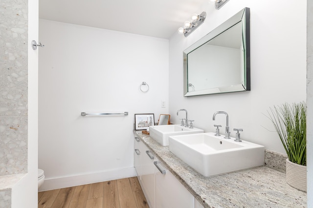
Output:
<svg viewBox="0 0 313 208">
<path fill-rule="evenodd" d="M 282 172 L 260 166 L 203 177 L 168 146 L 141 131 L 134 137 L 134 166 L 150 208 L 307 207 L 307 194 Z"/>
</svg>

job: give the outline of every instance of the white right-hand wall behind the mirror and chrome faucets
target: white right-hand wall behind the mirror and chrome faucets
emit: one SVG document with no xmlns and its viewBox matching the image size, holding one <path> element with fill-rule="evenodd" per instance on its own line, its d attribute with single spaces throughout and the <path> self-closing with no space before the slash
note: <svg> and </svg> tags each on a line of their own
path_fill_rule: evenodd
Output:
<svg viewBox="0 0 313 208">
<path fill-rule="evenodd" d="M 183 97 L 182 51 L 232 17 L 244 7 L 250 8 L 251 91 Z M 306 100 L 306 4 L 284 0 L 230 0 L 220 10 L 205 3 L 196 13 L 206 11 L 205 22 L 187 38 L 174 34 L 170 39 L 170 111 L 172 121 L 180 108 L 188 110 L 194 125 L 205 132 L 214 124 L 225 126 L 229 114 L 233 128 L 243 128 L 242 139 L 285 153 L 267 114 L 269 107 L 285 102 Z M 182 20 L 183 22 L 184 20 Z M 268 131 L 266 128 L 270 131 Z"/>
</svg>

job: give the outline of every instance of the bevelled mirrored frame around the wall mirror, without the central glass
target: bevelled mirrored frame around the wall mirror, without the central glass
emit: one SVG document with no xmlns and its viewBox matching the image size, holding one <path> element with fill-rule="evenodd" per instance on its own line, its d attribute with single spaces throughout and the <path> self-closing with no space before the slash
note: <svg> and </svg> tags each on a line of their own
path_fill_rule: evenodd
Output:
<svg viewBox="0 0 313 208">
<path fill-rule="evenodd" d="M 188 54 L 199 48 L 201 45 L 206 44 L 210 40 L 222 34 L 227 29 L 231 28 L 235 24 L 242 23 L 242 39 L 244 47 L 244 55 L 241 57 L 244 60 L 244 66 L 242 67 L 243 80 L 240 84 L 229 85 L 229 86 L 216 86 L 214 88 L 189 91 L 189 86 L 193 84 L 188 83 Z M 205 35 L 199 41 L 192 44 L 190 47 L 183 51 L 183 67 L 184 67 L 184 83 L 183 91 L 184 97 L 197 96 L 197 95 L 208 95 L 208 94 L 220 94 L 228 92 L 240 92 L 250 90 L 250 9 L 244 8 L 233 17 L 222 23 L 220 26 L 215 28 L 213 31 Z"/>
</svg>

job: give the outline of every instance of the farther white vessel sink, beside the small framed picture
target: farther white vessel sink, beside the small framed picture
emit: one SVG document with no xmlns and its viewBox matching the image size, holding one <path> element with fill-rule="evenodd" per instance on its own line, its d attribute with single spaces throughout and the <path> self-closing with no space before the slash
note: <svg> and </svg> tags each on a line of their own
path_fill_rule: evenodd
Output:
<svg viewBox="0 0 313 208">
<path fill-rule="evenodd" d="M 196 134 L 204 131 L 199 128 L 189 128 L 181 125 L 153 125 L 149 127 L 150 137 L 162 146 L 168 146 L 168 137 L 182 134 Z"/>
</svg>

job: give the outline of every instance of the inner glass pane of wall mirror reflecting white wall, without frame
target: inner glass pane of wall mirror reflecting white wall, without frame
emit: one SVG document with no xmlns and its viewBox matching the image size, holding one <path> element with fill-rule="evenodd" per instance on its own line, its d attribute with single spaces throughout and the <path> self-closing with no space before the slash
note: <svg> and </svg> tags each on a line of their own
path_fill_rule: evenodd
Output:
<svg viewBox="0 0 313 208">
<path fill-rule="evenodd" d="M 187 67 L 192 69 L 188 70 L 189 91 L 242 83 L 240 34 L 241 24 L 237 23 L 188 54 Z"/>
</svg>

